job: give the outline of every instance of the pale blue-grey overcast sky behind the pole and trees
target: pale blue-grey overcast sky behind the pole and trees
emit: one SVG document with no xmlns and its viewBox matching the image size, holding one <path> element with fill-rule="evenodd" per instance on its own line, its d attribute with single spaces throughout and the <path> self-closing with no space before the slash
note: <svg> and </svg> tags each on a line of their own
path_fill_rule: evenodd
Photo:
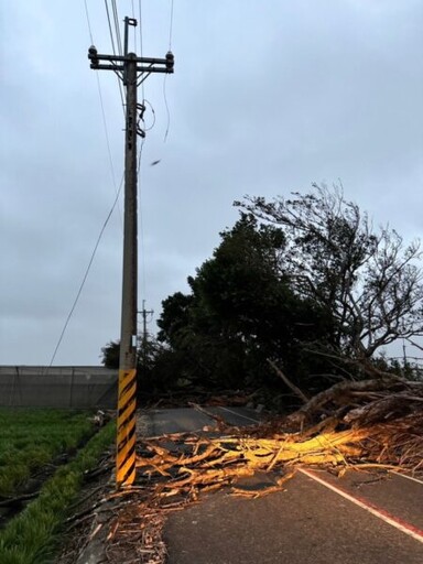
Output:
<svg viewBox="0 0 423 564">
<path fill-rule="evenodd" d="M 132 6 L 139 19 L 139 2 L 123 0 L 119 18 Z M 111 53 L 105 2 L 87 7 L 98 52 Z M 141 8 L 143 55 L 163 57 L 171 1 Z M 115 74 L 89 68 L 84 0 L 0 10 L 0 365 L 48 365 L 122 175 L 123 112 Z M 174 0 L 170 123 L 163 75 L 145 82 L 155 124 L 140 172 L 140 308 L 147 300 L 156 318 L 162 300 L 187 290 L 246 194 L 340 178 L 376 225 L 421 237 L 422 29 L 422 0 Z M 122 208 L 55 365 L 99 364 L 119 337 Z"/>
</svg>

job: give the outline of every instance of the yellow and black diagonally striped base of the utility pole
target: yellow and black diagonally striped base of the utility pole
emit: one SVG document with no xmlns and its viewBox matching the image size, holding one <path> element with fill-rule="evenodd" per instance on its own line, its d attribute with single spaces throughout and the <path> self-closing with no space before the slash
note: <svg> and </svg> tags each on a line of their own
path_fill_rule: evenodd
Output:
<svg viewBox="0 0 423 564">
<path fill-rule="evenodd" d="M 135 479 L 137 370 L 119 370 L 116 485 L 131 486 Z"/>
</svg>

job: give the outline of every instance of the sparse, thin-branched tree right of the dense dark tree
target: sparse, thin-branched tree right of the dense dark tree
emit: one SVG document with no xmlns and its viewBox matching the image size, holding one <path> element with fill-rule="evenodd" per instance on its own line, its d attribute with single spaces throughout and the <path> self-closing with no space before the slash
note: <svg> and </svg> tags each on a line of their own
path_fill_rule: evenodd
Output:
<svg viewBox="0 0 423 564">
<path fill-rule="evenodd" d="M 316 349 L 366 364 L 397 339 L 423 334 L 420 242 L 405 246 L 393 229 L 375 230 L 339 187 L 313 187 L 292 199 L 236 205 L 283 229 L 290 288 L 333 322 L 332 338 L 315 339 Z"/>
</svg>

